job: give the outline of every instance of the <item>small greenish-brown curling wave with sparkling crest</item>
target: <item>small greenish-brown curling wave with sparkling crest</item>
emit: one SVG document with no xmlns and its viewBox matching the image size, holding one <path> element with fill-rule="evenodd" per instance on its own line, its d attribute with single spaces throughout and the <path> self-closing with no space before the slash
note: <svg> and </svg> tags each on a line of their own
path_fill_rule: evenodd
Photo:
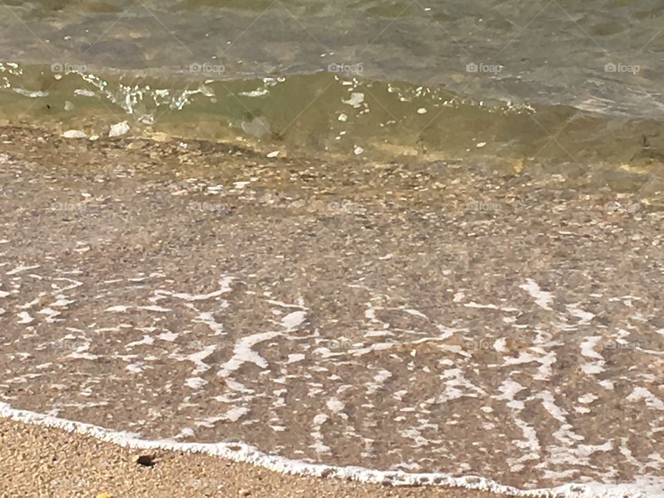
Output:
<svg viewBox="0 0 664 498">
<path fill-rule="evenodd" d="M 0 87 L 0 119 L 86 136 L 127 121 L 134 136 L 223 140 L 281 156 L 501 158 L 516 169 L 570 163 L 649 174 L 664 160 L 663 121 L 478 102 L 440 87 L 328 72 L 192 82 L 3 64 Z"/>
</svg>

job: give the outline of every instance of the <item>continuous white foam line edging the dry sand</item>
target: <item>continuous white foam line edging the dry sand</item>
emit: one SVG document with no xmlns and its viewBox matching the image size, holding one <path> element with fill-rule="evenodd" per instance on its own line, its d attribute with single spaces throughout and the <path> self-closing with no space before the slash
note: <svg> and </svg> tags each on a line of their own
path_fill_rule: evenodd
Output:
<svg viewBox="0 0 664 498">
<path fill-rule="evenodd" d="M 393 486 L 413 486 L 417 484 L 452 486 L 474 490 L 485 490 L 504 495 L 523 497 L 550 497 L 559 495 L 564 498 L 664 498 L 664 479 L 640 476 L 633 483 L 570 483 L 556 488 L 521 490 L 505 486 L 486 477 L 467 475 L 453 477 L 445 473 L 411 473 L 391 470 L 375 470 L 358 466 L 341 467 L 322 463 L 307 463 L 265 454 L 246 443 L 186 443 L 174 439 L 147 440 L 130 432 L 116 432 L 97 425 L 68 421 L 51 415 L 37 414 L 27 410 L 12 408 L 0 402 L 0 416 L 14 421 L 57 427 L 68 432 L 77 432 L 100 441 L 108 441 L 125 448 L 137 450 L 185 451 L 210 454 L 237 462 L 258 465 L 275 472 L 307 475 L 313 477 L 335 477 L 363 483 L 388 483 Z"/>
</svg>

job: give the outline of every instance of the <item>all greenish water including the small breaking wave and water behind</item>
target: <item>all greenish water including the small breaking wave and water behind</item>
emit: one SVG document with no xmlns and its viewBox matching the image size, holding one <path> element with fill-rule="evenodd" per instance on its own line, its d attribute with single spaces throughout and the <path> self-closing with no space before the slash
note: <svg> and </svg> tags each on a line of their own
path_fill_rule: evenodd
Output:
<svg viewBox="0 0 664 498">
<path fill-rule="evenodd" d="M 266 154 L 505 158 L 651 172 L 655 1 L 10 1 L 1 118 Z"/>
</svg>

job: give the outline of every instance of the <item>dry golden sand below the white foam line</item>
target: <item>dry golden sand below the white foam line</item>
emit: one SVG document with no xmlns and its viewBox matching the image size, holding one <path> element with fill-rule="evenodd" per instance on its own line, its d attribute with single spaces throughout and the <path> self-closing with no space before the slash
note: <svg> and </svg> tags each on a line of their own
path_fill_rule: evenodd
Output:
<svg viewBox="0 0 664 498">
<path fill-rule="evenodd" d="M 392 487 L 278 474 L 201 454 L 141 453 L 63 430 L 0 419 L 1 498 L 490 498 L 452 488 Z"/>
</svg>

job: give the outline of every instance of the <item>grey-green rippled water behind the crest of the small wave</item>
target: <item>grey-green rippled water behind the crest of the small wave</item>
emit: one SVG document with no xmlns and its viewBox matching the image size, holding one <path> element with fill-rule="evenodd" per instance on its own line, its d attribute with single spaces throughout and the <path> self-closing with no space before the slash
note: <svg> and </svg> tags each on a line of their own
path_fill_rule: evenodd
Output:
<svg viewBox="0 0 664 498">
<path fill-rule="evenodd" d="M 223 66 L 226 80 L 334 63 L 359 65 L 371 79 L 441 85 L 478 100 L 649 118 L 661 118 L 664 109 L 664 7 L 655 0 L 8 5 L 0 53 L 24 62 L 167 73 L 208 63 Z"/>
</svg>

